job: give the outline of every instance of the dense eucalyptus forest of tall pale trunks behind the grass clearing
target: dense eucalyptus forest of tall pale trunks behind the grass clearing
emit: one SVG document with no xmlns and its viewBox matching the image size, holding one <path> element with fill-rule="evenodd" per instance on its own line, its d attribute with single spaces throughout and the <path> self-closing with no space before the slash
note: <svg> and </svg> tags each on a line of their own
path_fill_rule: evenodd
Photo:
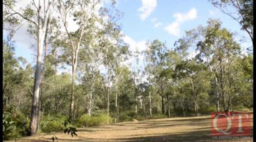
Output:
<svg viewBox="0 0 256 142">
<path fill-rule="evenodd" d="M 14 0 L 3 1 L 4 139 L 61 131 L 67 120 L 75 129 L 252 109 L 252 48 L 242 54 L 220 20 L 186 31 L 173 47 L 156 39 L 133 53 L 114 0 L 108 7 L 99 0 L 41 1 L 19 11 Z M 226 14 L 253 41 L 252 0 L 238 1 L 210 0 L 224 13 L 225 5 L 235 7 L 237 17 Z M 15 56 L 22 21 L 36 41 L 35 65 Z"/>
</svg>

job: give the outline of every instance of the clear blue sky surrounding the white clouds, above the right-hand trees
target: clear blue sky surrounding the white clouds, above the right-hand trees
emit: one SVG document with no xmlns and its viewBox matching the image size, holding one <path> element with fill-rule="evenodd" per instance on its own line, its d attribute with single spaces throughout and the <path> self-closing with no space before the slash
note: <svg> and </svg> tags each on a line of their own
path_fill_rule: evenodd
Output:
<svg viewBox="0 0 256 142">
<path fill-rule="evenodd" d="M 118 9 L 124 12 L 124 17 L 119 21 L 122 24 L 122 31 L 135 41 L 159 39 L 166 41 L 168 47 L 173 47 L 174 41 L 180 36 L 169 34 L 164 27 L 175 22 L 174 14 L 186 14 L 192 8 L 196 9 L 197 18 L 180 24 L 181 35 L 184 35 L 185 30 L 193 29 L 198 25 L 206 25 L 208 18 L 219 18 L 223 22 L 223 27 L 248 38 L 247 33 L 240 30 L 240 26 L 236 21 L 221 13 L 208 0 L 157 0 L 154 11 L 144 21 L 139 16 L 141 13 L 138 9 L 141 6 L 141 0 L 120 0 L 117 6 Z M 154 18 L 157 19 L 156 22 L 152 22 Z M 162 25 L 156 28 L 154 24 L 157 22 L 161 22 Z M 248 42 L 250 46 L 250 40 Z"/>
</svg>

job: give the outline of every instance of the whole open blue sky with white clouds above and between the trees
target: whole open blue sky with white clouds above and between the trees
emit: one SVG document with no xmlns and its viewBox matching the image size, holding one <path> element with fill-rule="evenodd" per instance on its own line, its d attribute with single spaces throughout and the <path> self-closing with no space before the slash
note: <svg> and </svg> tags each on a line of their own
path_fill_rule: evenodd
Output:
<svg viewBox="0 0 256 142">
<path fill-rule="evenodd" d="M 145 50 L 147 40 L 158 39 L 166 41 L 168 48 L 186 30 L 198 25 L 206 25 L 209 18 L 219 18 L 223 27 L 237 33 L 237 39 L 245 36 L 246 43 L 241 43 L 242 49 L 251 45 L 249 36 L 240 30 L 239 24 L 208 2 L 208 0 L 118 0 L 117 9 L 124 12 L 118 22 L 122 25 L 124 41 L 130 44 L 130 50 Z M 4 34 L 5 36 L 5 34 Z M 35 41 L 28 36 L 26 26 L 22 26 L 15 35 L 16 56 L 23 56 L 34 64 L 35 49 L 30 47 Z M 193 52 L 193 51 L 191 51 Z"/>
</svg>

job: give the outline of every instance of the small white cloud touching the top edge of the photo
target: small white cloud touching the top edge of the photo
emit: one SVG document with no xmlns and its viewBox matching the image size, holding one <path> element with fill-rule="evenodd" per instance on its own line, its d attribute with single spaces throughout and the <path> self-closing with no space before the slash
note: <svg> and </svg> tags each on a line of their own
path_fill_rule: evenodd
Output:
<svg viewBox="0 0 256 142">
<path fill-rule="evenodd" d="M 148 16 L 156 9 L 157 2 L 156 0 L 141 0 L 142 6 L 139 8 L 141 12 L 140 18 L 141 20 L 146 20 Z"/>
</svg>

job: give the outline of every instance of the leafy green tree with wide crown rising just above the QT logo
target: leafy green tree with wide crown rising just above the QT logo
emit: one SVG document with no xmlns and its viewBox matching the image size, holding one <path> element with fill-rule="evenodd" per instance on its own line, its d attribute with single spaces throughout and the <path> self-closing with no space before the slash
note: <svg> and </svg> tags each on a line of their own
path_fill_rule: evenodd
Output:
<svg viewBox="0 0 256 142">
<path fill-rule="evenodd" d="M 235 63 L 234 59 L 240 54 L 240 46 L 234 41 L 233 33 L 221 27 L 219 21 L 210 20 L 205 29 L 205 38 L 197 44 L 200 51 L 199 58 L 207 57 L 208 64 L 215 74 L 218 89 L 221 92 L 223 110 L 228 111 L 231 92 L 230 67 Z"/>
</svg>

